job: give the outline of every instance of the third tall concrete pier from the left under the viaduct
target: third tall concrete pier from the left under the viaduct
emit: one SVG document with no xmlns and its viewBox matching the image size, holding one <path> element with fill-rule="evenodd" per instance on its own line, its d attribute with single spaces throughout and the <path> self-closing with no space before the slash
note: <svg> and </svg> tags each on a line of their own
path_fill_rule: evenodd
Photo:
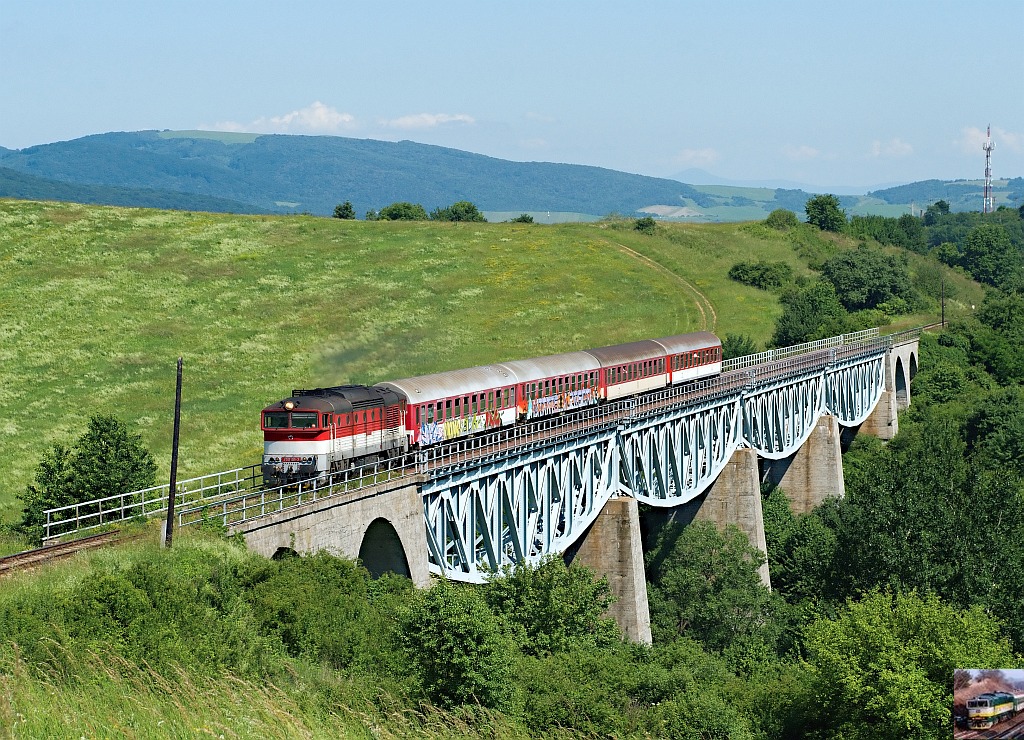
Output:
<svg viewBox="0 0 1024 740">
<path fill-rule="evenodd" d="M 839 420 L 821 417 L 807 441 L 783 460 L 765 461 L 768 480 L 785 491 L 794 514 L 805 514 L 828 496 L 842 498 L 843 449 Z"/>
</svg>

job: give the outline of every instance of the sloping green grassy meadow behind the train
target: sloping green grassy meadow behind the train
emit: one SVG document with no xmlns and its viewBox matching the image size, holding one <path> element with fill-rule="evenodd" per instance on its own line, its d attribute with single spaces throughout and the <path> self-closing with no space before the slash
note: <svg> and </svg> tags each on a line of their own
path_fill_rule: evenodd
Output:
<svg viewBox="0 0 1024 740">
<path fill-rule="evenodd" d="M 43 451 L 97 412 L 137 430 L 166 480 L 179 355 L 182 479 L 258 462 L 259 411 L 293 388 L 702 329 L 763 345 L 778 300 L 729 267 L 809 272 L 799 245 L 760 224 L 632 224 L 0 201 L 0 521 Z"/>
</svg>

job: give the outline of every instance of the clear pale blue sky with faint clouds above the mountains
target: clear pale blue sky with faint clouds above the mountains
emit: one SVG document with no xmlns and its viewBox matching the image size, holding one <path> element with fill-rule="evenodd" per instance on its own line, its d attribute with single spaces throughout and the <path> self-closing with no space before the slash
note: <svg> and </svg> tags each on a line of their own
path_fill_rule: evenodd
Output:
<svg viewBox="0 0 1024 740">
<path fill-rule="evenodd" d="M 223 129 L 663 177 L 1024 175 L 1024 0 L 0 0 L 0 145 Z"/>
</svg>

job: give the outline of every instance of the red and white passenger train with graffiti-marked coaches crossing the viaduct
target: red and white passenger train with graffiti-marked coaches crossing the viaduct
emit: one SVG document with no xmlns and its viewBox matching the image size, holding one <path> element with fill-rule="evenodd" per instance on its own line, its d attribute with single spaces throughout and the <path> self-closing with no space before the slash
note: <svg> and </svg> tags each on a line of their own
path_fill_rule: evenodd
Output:
<svg viewBox="0 0 1024 740">
<path fill-rule="evenodd" d="M 722 372 L 708 332 L 387 381 L 295 390 L 263 409 L 263 478 L 293 483 Z"/>
</svg>

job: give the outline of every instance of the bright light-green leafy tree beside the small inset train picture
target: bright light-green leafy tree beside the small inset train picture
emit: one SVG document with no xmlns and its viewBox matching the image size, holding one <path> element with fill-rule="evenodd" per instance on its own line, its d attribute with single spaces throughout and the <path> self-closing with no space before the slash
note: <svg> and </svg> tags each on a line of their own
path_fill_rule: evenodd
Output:
<svg viewBox="0 0 1024 740">
<path fill-rule="evenodd" d="M 872 592 L 810 624 L 806 647 L 822 736 L 850 740 L 949 737 L 953 670 L 1014 661 L 983 609 L 934 594 Z"/>
</svg>

